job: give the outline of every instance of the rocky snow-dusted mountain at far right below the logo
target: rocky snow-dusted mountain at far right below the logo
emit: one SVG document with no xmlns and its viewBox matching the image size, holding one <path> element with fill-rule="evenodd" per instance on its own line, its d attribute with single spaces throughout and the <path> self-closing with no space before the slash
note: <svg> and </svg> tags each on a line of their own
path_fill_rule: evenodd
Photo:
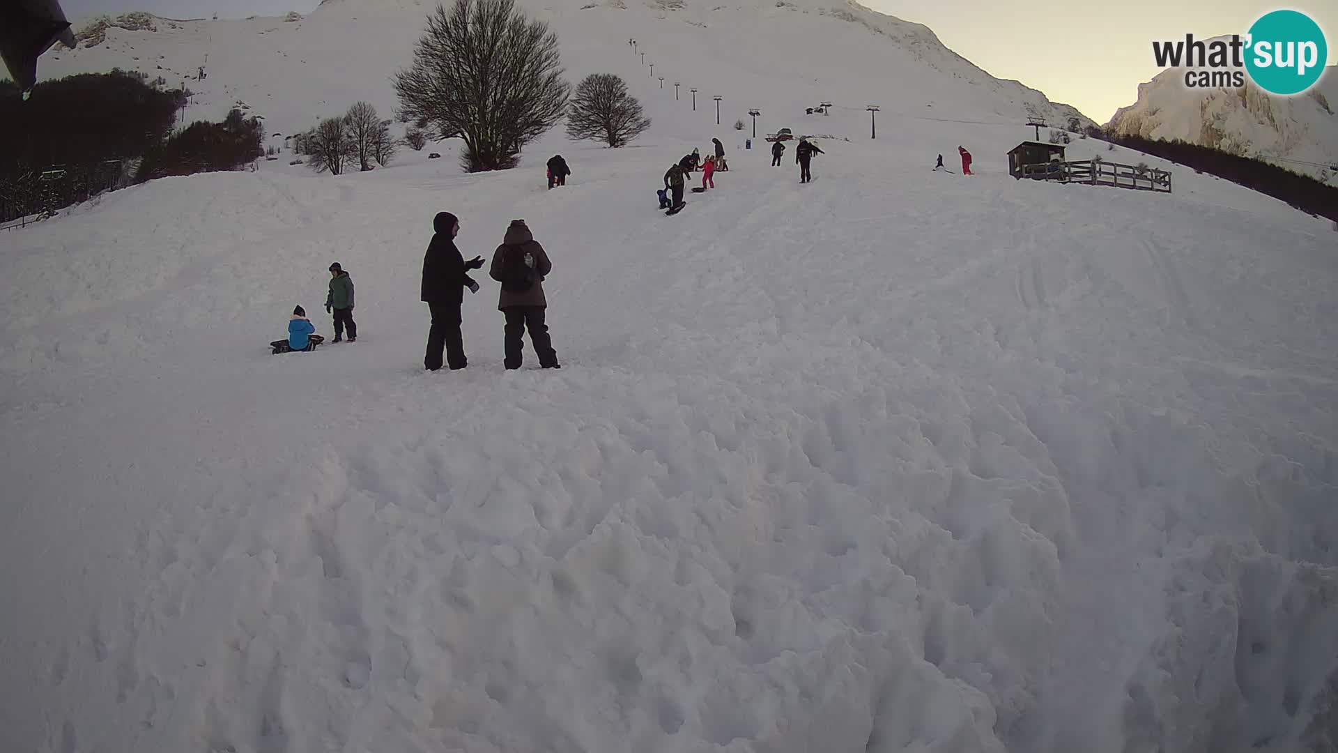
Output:
<svg viewBox="0 0 1338 753">
<path fill-rule="evenodd" d="M 1329 67 L 1309 92 L 1275 96 L 1246 80 L 1240 90 L 1184 87 L 1183 71 L 1168 70 L 1139 84 L 1139 99 L 1121 107 L 1111 126 L 1121 134 L 1184 139 L 1232 154 L 1258 157 L 1309 176 L 1338 176 L 1338 67 Z"/>
</svg>

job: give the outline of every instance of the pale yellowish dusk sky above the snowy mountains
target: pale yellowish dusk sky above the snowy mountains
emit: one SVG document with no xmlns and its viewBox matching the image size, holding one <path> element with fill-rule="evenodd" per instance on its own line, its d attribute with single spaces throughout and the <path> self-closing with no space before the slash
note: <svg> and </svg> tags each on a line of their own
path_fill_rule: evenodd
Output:
<svg viewBox="0 0 1338 753">
<path fill-rule="evenodd" d="M 62 0 L 70 16 L 150 11 L 167 17 L 246 17 L 309 12 L 320 0 Z M 870 8 L 922 23 L 943 44 L 991 75 L 1017 79 L 1104 123 L 1132 105 L 1137 86 L 1157 74 L 1153 40 L 1244 33 L 1260 15 L 1302 11 L 1329 42 L 1338 63 L 1338 3 L 1278 5 L 1262 0 L 1121 0 L 1040 4 L 994 0 L 863 0 Z"/>
</svg>

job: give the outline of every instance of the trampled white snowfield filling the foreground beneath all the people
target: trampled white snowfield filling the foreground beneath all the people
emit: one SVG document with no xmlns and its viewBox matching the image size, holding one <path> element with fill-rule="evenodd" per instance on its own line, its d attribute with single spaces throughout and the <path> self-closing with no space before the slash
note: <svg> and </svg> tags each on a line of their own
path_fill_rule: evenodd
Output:
<svg viewBox="0 0 1338 753">
<path fill-rule="evenodd" d="M 1175 193 L 1017 182 L 970 88 L 870 141 L 781 115 L 820 95 L 780 21 L 586 13 L 573 78 L 654 118 L 626 149 L 285 159 L 0 234 L 0 750 L 1334 749 L 1327 221 L 1120 149 Z M 799 185 L 629 36 L 842 138 Z M 977 177 L 930 170 L 959 143 Z M 440 210 L 466 257 L 529 222 L 562 370 L 503 371 L 480 271 L 468 368 L 423 371 Z M 270 355 L 296 304 L 332 335 L 330 261 L 359 342 Z"/>
</svg>

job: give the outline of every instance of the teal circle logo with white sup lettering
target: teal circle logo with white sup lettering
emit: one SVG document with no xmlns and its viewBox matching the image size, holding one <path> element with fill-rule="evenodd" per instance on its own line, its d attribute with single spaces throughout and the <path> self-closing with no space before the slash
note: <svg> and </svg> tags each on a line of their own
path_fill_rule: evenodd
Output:
<svg viewBox="0 0 1338 753">
<path fill-rule="evenodd" d="M 1298 11 L 1272 11 L 1250 27 L 1246 70 L 1271 94 L 1301 94 L 1325 72 L 1325 32 Z"/>
</svg>

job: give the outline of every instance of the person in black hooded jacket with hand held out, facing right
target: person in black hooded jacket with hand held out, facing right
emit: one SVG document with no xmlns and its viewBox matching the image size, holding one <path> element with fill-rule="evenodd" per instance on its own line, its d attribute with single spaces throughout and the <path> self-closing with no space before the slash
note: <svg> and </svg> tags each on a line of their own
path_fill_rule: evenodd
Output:
<svg viewBox="0 0 1338 753">
<path fill-rule="evenodd" d="M 442 348 L 446 348 L 446 362 L 452 371 L 464 368 L 464 338 L 460 335 L 460 304 L 464 301 L 464 288 L 479 292 L 479 284 L 466 273 L 483 267 L 483 257 L 475 256 L 466 261 L 455 248 L 455 236 L 460 232 L 460 221 L 450 212 L 440 212 L 432 220 L 432 243 L 423 255 L 423 295 L 432 312 L 432 328 L 427 335 L 427 355 L 423 366 L 428 371 L 442 368 Z"/>
</svg>

